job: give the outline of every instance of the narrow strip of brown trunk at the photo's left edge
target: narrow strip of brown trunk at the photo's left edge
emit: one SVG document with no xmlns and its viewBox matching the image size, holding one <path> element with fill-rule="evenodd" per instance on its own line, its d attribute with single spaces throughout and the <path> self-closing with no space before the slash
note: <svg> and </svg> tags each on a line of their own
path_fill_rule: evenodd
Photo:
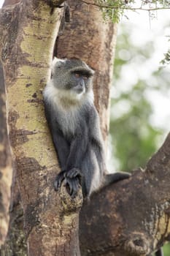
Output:
<svg viewBox="0 0 170 256">
<path fill-rule="evenodd" d="M 0 246 L 7 235 L 12 161 L 7 137 L 4 71 L 0 61 Z"/>
</svg>

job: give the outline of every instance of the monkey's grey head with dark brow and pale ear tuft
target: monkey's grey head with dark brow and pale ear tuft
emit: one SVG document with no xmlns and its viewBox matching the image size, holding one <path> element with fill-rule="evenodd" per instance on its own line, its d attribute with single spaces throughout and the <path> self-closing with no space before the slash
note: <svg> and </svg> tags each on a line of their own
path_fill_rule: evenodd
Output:
<svg viewBox="0 0 170 256">
<path fill-rule="evenodd" d="M 52 80 L 55 88 L 82 95 L 92 90 L 93 69 L 79 59 L 53 59 Z"/>
</svg>

